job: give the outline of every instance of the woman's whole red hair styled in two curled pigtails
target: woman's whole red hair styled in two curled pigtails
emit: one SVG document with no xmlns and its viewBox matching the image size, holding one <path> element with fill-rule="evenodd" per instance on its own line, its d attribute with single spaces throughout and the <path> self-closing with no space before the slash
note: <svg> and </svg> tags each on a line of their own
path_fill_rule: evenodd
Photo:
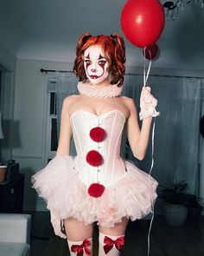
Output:
<svg viewBox="0 0 204 256">
<path fill-rule="evenodd" d="M 112 80 L 111 84 L 118 84 L 121 86 L 124 82 L 124 62 L 125 62 L 125 48 L 124 39 L 118 33 L 111 36 L 92 36 L 88 33 L 80 36 L 76 46 L 76 59 L 73 65 L 73 72 L 78 77 L 80 82 L 86 82 L 86 72 L 84 69 L 84 52 L 94 44 L 102 47 L 105 58 L 109 62 L 109 72 Z"/>
</svg>

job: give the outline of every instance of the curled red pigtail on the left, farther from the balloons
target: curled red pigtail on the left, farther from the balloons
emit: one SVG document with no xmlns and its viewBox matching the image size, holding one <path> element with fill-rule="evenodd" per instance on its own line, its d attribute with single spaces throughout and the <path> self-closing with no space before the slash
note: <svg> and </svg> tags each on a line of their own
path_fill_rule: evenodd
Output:
<svg viewBox="0 0 204 256">
<path fill-rule="evenodd" d="M 83 67 L 83 46 L 86 41 L 92 37 L 91 34 L 85 33 L 80 36 L 76 46 L 76 59 L 73 64 L 73 73 L 79 78 L 80 81 L 84 82 L 86 80 L 86 73 Z M 80 75 L 79 75 L 80 74 Z"/>
</svg>

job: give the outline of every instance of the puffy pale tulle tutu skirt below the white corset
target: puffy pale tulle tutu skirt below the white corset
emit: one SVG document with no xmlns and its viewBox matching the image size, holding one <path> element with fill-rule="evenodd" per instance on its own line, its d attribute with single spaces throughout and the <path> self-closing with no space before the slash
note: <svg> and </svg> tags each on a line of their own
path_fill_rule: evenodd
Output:
<svg viewBox="0 0 204 256">
<path fill-rule="evenodd" d="M 99 198 L 87 193 L 88 187 L 74 171 L 73 157 L 56 156 L 48 166 L 32 176 L 33 187 L 47 202 L 48 209 L 61 220 L 73 217 L 85 224 L 94 221 L 111 227 L 124 216 L 142 219 L 152 212 L 156 200 L 157 181 L 129 161 L 126 173 L 105 187 Z"/>
</svg>

